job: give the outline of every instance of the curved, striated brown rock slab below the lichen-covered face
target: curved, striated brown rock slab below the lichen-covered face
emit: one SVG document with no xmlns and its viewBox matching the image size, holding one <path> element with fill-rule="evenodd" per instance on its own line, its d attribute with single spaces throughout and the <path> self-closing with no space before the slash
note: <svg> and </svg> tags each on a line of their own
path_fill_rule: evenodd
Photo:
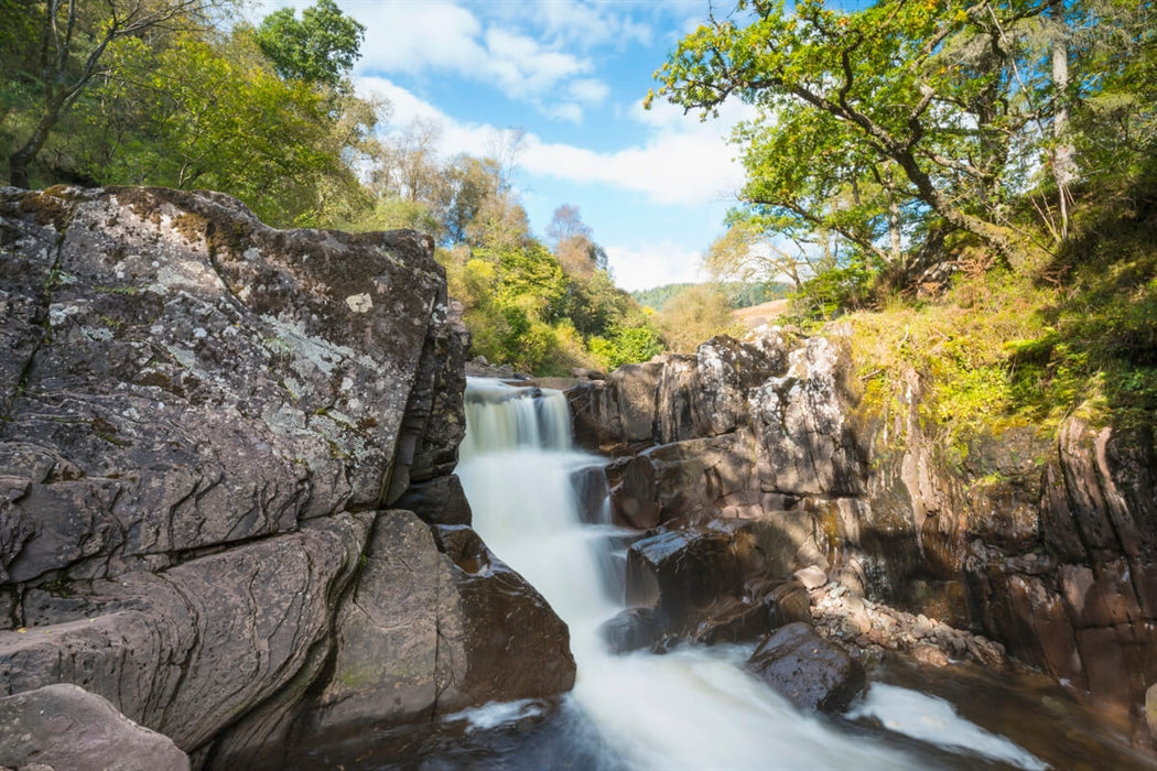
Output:
<svg viewBox="0 0 1157 771">
<path fill-rule="evenodd" d="M 0 632 L 0 687 L 76 683 L 194 750 L 317 674 L 367 525 L 341 514 L 84 594 L 30 591 L 29 625 Z"/>
</svg>

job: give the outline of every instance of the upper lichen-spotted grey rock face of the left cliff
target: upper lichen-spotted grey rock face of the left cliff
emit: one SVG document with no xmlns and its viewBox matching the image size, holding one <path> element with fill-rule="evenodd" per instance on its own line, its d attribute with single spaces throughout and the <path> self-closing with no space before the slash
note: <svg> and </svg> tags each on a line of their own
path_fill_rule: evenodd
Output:
<svg viewBox="0 0 1157 771">
<path fill-rule="evenodd" d="M 8 194 L 0 217 L 25 354 L 0 385 L 0 580 L 381 503 L 447 324 L 421 237 L 277 231 L 234 199 L 138 188 Z"/>
</svg>

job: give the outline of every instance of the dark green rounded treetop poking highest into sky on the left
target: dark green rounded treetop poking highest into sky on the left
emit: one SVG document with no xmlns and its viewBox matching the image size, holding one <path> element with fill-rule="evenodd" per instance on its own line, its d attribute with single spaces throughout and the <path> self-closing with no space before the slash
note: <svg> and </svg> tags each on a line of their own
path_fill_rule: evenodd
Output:
<svg viewBox="0 0 1157 771">
<path fill-rule="evenodd" d="M 261 20 L 257 44 L 281 77 L 337 88 L 361 55 L 366 27 L 341 13 L 333 0 L 317 0 L 301 20 L 281 8 Z"/>
</svg>

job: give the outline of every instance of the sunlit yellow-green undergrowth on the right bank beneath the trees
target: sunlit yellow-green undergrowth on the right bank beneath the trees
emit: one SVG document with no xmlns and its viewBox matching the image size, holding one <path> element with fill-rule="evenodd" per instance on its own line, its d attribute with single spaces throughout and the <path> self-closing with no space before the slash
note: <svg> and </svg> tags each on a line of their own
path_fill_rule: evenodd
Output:
<svg viewBox="0 0 1157 771">
<path fill-rule="evenodd" d="M 865 406 L 904 403 L 956 452 L 1016 425 L 1055 435 L 1064 417 L 1157 425 L 1157 195 L 1083 202 L 1044 265 L 959 270 L 930 299 L 892 297 L 849 317 Z"/>
</svg>

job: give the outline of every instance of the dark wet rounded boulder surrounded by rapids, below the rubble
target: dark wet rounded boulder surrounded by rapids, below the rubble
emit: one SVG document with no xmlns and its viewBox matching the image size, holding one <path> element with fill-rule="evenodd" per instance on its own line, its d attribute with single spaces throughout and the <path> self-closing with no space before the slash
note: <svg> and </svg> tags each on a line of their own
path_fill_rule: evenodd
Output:
<svg viewBox="0 0 1157 771">
<path fill-rule="evenodd" d="M 867 684 L 858 661 L 802 622 L 765 639 L 747 669 L 801 710 L 841 712 Z"/>
</svg>

